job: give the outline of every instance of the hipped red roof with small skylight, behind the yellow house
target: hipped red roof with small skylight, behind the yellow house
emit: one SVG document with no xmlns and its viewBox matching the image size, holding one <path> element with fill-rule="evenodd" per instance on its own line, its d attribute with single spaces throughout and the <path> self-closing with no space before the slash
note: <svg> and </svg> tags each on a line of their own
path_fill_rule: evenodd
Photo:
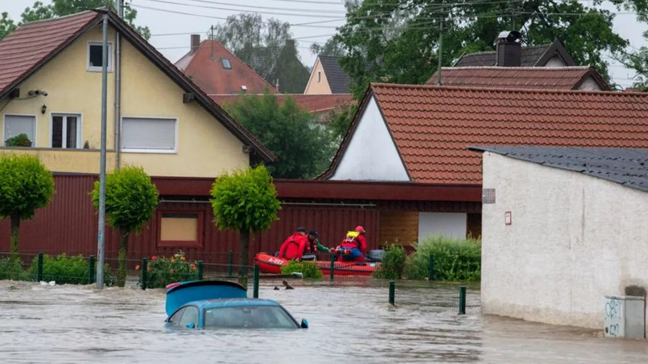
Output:
<svg viewBox="0 0 648 364">
<path fill-rule="evenodd" d="M 223 67 L 221 58 L 229 59 L 231 69 Z M 266 87 L 271 93 L 277 93 L 273 85 L 215 40 L 203 40 L 198 50 L 185 54 L 176 67 L 207 95 L 236 95 L 243 85 L 248 87 L 248 93 L 263 93 Z"/>
</svg>

